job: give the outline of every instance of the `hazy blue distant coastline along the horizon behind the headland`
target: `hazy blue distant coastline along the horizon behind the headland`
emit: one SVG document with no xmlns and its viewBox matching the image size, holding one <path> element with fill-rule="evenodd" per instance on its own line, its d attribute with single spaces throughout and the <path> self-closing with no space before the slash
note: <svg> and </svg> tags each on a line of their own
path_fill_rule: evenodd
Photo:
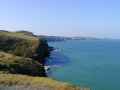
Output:
<svg viewBox="0 0 120 90">
<path fill-rule="evenodd" d="M 0 30 L 0 32 L 8 32 L 7 30 Z M 47 40 L 48 42 L 56 42 L 56 41 L 66 41 L 66 40 L 112 40 L 112 38 L 98 38 L 98 37 L 88 37 L 88 36 L 73 36 L 73 37 L 68 37 L 68 36 L 52 36 L 52 35 L 34 35 L 30 31 L 25 31 L 25 30 L 20 30 L 16 31 L 19 33 L 24 33 L 25 35 L 30 35 L 34 36 L 37 38 L 43 38 Z"/>
</svg>

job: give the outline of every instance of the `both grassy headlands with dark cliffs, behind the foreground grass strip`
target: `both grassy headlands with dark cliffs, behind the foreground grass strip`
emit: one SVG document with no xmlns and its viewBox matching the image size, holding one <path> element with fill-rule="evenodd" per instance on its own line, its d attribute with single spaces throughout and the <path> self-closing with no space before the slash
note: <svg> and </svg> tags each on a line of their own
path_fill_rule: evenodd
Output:
<svg viewBox="0 0 120 90">
<path fill-rule="evenodd" d="M 0 32 L 0 71 L 46 76 L 44 58 L 49 46 L 44 39 L 18 32 Z"/>
</svg>

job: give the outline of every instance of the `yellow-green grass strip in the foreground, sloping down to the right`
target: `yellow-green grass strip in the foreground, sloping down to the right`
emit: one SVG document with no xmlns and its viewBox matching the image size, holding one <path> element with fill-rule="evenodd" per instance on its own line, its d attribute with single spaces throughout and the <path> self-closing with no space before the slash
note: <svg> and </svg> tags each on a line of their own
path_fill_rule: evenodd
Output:
<svg viewBox="0 0 120 90">
<path fill-rule="evenodd" d="M 49 90 L 79 90 L 79 87 L 74 87 L 70 84 L 58 82 L 50 78 L 31 77 L 25 75 L 0 74 L 1 85 L 19 85 L 31 87 L 45 87 Z"/>
</svg>

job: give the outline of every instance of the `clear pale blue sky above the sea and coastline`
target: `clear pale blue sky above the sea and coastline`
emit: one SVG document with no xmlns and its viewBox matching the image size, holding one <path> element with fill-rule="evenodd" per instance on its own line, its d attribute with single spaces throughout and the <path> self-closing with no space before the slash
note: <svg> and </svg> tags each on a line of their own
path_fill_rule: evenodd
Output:
<svg viewBox="0 0 120 90">
<path fill-rule="evenodd" d="M 120 38 L 120 0 L 0 0 L 0 29 Z"/>
</svg>

